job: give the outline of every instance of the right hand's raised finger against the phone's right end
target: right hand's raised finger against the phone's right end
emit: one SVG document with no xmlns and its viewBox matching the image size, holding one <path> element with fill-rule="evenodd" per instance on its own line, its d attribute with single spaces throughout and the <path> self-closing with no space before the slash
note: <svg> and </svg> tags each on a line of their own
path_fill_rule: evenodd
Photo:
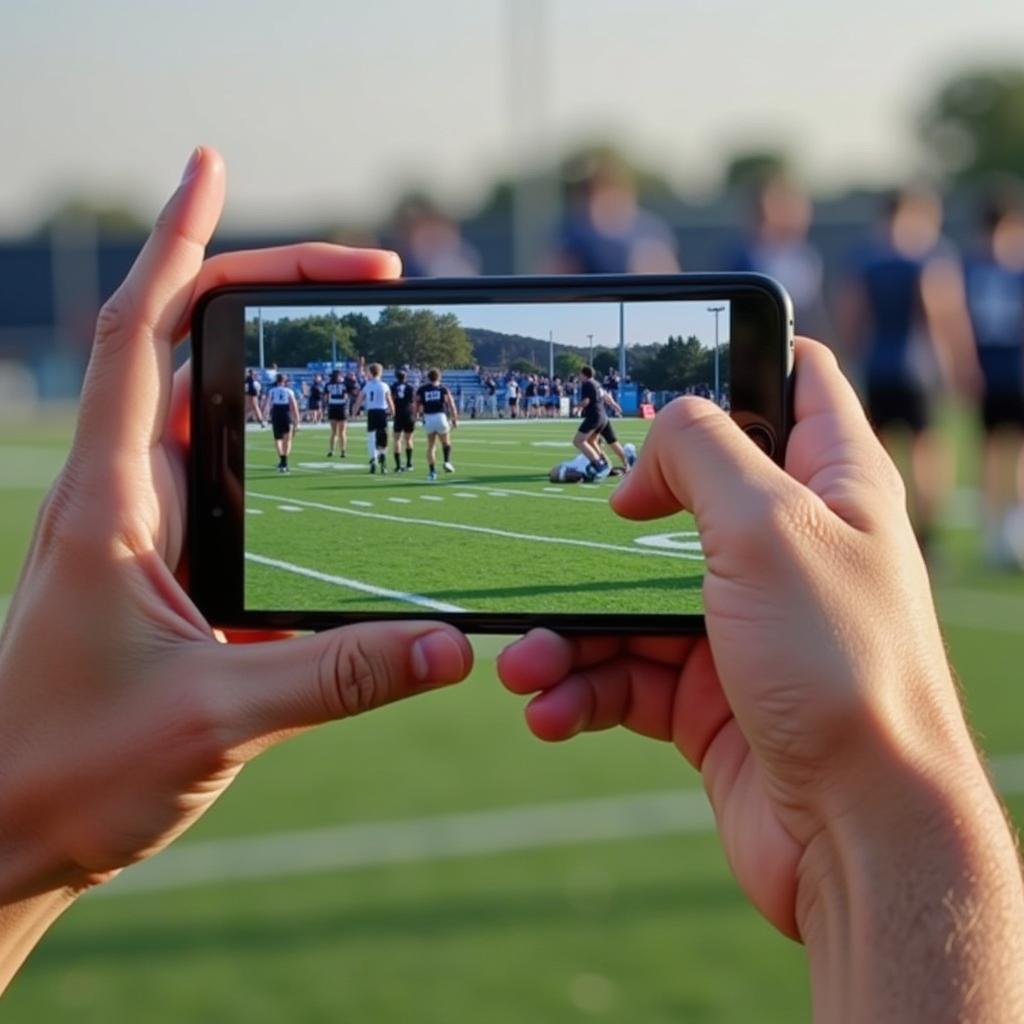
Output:
<svg viewBox="0 0 1024 1024">
<path fill-rule="evenodd" d="M 798 338 L 796 359 L 786 471 L 852 526 L 890 520 L 893 506 L 902 510 L 903 484 L 836 356 L 819 342 Z"/>
</svg>

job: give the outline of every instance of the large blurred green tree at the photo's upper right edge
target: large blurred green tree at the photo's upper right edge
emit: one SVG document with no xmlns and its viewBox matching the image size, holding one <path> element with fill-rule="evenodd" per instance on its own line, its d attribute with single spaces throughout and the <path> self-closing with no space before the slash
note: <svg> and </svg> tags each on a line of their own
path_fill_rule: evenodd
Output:
<svg viewBox="0 0 1024 1024">
<path fill-rule="evenodd" d="M 1024 176 L 1024 68 L 985 68 L 949 79 L 925 109 L 920 131 L 940 171 L 975 180 Z"/>
</svg>

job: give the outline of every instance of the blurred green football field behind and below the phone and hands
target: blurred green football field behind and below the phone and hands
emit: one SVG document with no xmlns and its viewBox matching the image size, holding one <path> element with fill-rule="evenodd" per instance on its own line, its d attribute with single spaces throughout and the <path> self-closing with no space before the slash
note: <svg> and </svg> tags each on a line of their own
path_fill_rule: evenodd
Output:
<svg viewBox="0 0 1024 1024">
<path fill-rule="evenodd" d="M 5 427 L 0 602 L 13 591 L 70 431 L 67 417 L 53 416 Z M 957 437 L 968 483 L 973 449 L 966 430 Z M 270 443 L 250 440 L 255 464 Z M 559 454 L 539 451 L 542 469 Z M 324 461 L 318 446 L 310 452 Z M 485 468 L 470 462 L 505 458 L 483 446 L 470 453 L 456 449 L 458 481 L 439 486 Z M 272 454 L 264 461 L 272 466 Z M 390 477 L 357 485 L 374 483 L 398 494 Z M 267 473 L 260 489 L 287 504 L 286 494 L 315 484 L 316 501 L 337 501 L 327 496 L 339 486 L 328 472 Z M 495 489 L 513 486 L 503 484 Z M 426 493 L 422 476 L 400 486 Z M 610 486 L 602 486 L 594 494 L 603 498 Z M 571 503 L 516 500 L 546 510 L 546 535 L 571 536 Z M 1019 816 L 1024 584 L 979 567 L 971 513 L 970 493 L 958 493 L 937 596 L 974 726 Z M 291 527 L 297 543 L 315 520 L 290 515 L 301 525 Z M 326 558 L 321 550 L 309 564 L 324 569 Z M 665 575 L 688 567 L 650 562 Z M 341 564 L 334 571 L 345 574 Z M 525 586 L 534 574 L 524 567 L 518 579 Z M 489 568 L 470 580 L 477 591 L 489 583 Z M 477 666 L 461 686 L 307 733 L 254 763 L 171 851 L 72 908 L 15 980 L 4 1019 L 809 1019 L 802 950 L 736 890 L 694 773 L 668 745 L 622 732 L 557 746 L 534 740 L 521 702 L 496 681 L 500 643 L 475 643 Z"/>
</svg>

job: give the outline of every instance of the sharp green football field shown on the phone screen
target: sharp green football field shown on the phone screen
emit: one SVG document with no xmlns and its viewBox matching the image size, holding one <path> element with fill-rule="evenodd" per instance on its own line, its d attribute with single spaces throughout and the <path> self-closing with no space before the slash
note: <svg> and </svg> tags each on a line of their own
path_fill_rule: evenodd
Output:
<svg viewBox="0 0 1024 1024">
<path fill-rule="evenodd" d="M 642 420 L 615 420 L 639 446 Z M 416 432 L 413 472 L 371 475 L 367 429 L 327 459 L 327 427 L 303 426 L 291 472 L 270 431 L 246 443 L 246 603 L 331 611 L 699 612 L 703 558 L 693 519 L 629 522 L 608 507 L 617 478 L 553 484 L 572 459 L 574 420 L 464 419 L 456 472 L 427 479 Z M 612 463 L 615 459 L 608 453 Z M 403 461 L 404 462 L 404 461 Z"/>
</svg>

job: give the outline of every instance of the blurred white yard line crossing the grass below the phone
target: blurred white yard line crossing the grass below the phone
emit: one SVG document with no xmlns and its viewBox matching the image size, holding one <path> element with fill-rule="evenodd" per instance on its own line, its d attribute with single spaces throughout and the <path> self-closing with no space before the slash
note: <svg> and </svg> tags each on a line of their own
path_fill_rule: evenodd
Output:
<svg viewBox="0 0 1024 1024">
<path fill-rule="evenodd" d="M 1004 796 L 1024 793 L 1024 755 L 994 758 Z M 128 868 L 89 899 L 321 871 L 419 864 L 657 836 L 702 835 L 715 818 L 700 790 L 655 791 L 183 843 Z"/>
</svg>

